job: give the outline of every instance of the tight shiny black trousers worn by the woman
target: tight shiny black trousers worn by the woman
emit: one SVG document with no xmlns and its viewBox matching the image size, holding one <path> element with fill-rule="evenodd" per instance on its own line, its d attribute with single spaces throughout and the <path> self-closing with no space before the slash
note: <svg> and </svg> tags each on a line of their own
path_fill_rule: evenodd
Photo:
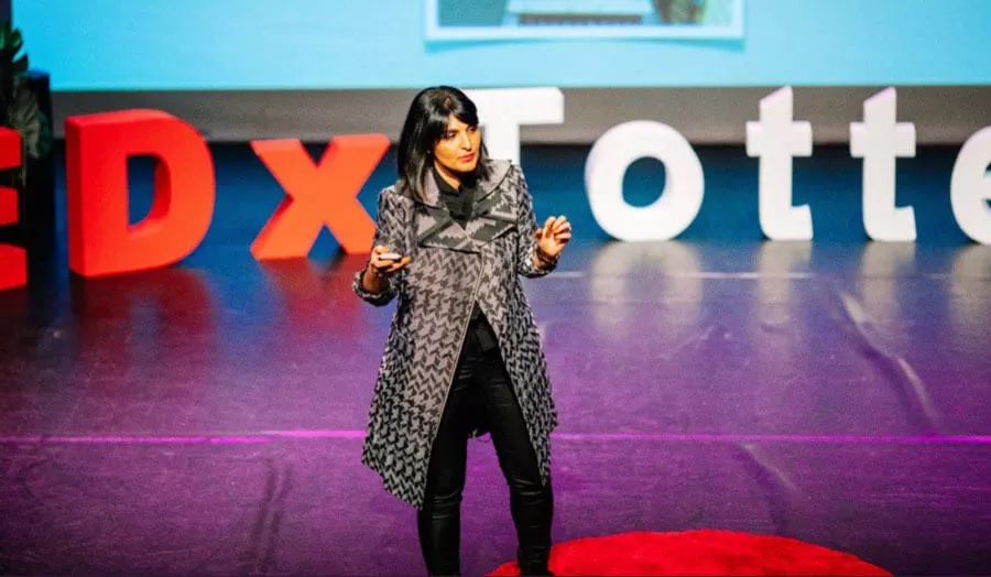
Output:
<svg viewBox="0 0 991 577">
<path fill-rule="evenodd" d="M 479 407 L 510 487 L 510 510 L 523 575 L 547 575 L 554 502 L 540 468 L 499 349 L 482 350 L 469 331 L 434 440 L 426 499 L 417 512 L 420 545 L 431 575 L 460 574 L 460 509 L 468 435 Z"/>
</svg>

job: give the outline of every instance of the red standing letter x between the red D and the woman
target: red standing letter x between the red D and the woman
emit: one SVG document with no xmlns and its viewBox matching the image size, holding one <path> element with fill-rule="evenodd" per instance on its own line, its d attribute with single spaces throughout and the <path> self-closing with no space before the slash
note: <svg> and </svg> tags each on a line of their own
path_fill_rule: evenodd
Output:
<svg viewBox="0 0 991 577">
<path fill-rule="evenodd" d="M 384 134 L 336 137 L 314 165 L 295 139 L 251 142 L 286 197 L 251 243 L 258 260 L 306 257 L 324 225 L 345 252 L 367 252 L 374 222 L 358 203 L 361 185 L 389 150 Z"/>
</svg>

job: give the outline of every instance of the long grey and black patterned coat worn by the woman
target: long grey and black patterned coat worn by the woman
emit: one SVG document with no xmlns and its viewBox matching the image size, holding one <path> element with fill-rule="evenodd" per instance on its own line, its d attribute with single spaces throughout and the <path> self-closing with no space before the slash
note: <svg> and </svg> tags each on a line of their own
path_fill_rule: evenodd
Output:
<svg viewBox="0 0 991 577">
<path fill-rule="evenodd" d="M 424 202 L 395 185 L 379 193 L 374 244 L 411 255 L 410 264 L 378 295 L 362 288 L 360 271 L 352 283 L 373 305 L 398 297 L 361 460 L 382 476 L 388 491 L 417 509 L 476 301 L 496 333 L 544 482 L 551 471 L 548 435 L 557 425 L 540 336 L 519 276 L 549 272 L 533 265 L 536 219 L 523 172 L 493 161 L 464 228 L 433 178 L 424 188 Z"/>
</svg>

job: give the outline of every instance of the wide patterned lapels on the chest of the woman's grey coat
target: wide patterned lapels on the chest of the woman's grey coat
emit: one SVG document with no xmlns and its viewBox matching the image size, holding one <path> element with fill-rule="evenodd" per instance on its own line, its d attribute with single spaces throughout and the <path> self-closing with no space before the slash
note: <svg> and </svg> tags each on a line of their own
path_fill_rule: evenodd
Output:
<svg viewBox="0 0 991 577">
<path fill-rule="evenodd" d="M 440 190 L 433 176 L 424 181 L 425 199 L 417 200 L 416 242 L 422 247 L 437 247 L 461 252 L 479 252 L 481 246 L 491 242 L 515 226 L 515 215 L 510 195 L 500 188 L 509 173 L 510 163 L 494 161 L 489 176 L 479 183 L 472 216 L 458 225 L 440 200 Z"/>
</svg>

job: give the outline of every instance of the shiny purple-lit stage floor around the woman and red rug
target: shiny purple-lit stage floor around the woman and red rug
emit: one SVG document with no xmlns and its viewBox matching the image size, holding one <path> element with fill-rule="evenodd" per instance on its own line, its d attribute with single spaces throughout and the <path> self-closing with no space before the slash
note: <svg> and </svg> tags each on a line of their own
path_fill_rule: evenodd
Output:
<svg viewBox="0 0 991 577">
<path fill-rule="evenodd" d="M 254 263 L 277 195 L 218 154 L 227 216 L 179 266 L 83 281 L 63 255 L 0 293 L 0 573 L 422 574 L 413 511 L 359 462 L 391 311 L 349 292 L 360 258 Z M 557 541 L 728 529 L 991 573 L 991 247 L 922 238 L 946 214 L 919 206 L 915 244 L 609 242 L 551 155 L 579 153 L 524 155 L 538 213 L 578 233 L 526 284 L 560 411 Z M 739 156 L 703 161 L 741 163 L 720 209 L 752 228 Z M 515 544 L 492 447 L 470 447 L 480 574 Z"/>
</svg>

